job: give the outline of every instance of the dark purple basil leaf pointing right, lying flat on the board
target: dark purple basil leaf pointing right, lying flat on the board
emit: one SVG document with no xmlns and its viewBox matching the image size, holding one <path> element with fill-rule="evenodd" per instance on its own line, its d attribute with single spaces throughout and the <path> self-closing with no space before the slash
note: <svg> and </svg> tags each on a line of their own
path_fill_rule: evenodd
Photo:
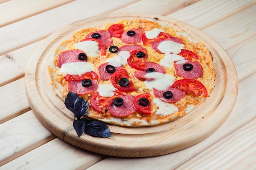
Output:
<svg viewBox="0 0 256 170">
<path fill-rule="evenodd" d="M 103 122 L 99 120 L 88 120 L 82 118 L 85 121 L 85 129 L 84 132 L 87 135 L 95 136 L 95 137 L 112 137 L 109 128 Z"/>
</svg>

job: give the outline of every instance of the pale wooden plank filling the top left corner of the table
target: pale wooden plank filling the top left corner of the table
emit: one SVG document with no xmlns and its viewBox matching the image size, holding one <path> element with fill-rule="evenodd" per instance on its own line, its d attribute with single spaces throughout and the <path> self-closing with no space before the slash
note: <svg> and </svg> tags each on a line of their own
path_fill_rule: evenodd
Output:
<svg viewBox="0 0 256 170">
<path fill-rule="evenodd" d="M 0 4 L 0 27 L 74 0 L 10 0 Z"/>
</svg>

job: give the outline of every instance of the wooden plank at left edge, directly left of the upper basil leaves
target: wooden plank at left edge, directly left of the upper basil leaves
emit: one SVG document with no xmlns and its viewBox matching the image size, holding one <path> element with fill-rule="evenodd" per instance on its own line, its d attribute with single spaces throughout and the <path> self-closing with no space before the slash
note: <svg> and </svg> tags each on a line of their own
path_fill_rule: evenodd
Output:
<svg viewBox="0 0 256 170">
<path fill-rule="evenodd" d="M 0 124 L 31 110 L 26 100 L 24 78 L 0 87 L 0 94 Z"/>
</svg>

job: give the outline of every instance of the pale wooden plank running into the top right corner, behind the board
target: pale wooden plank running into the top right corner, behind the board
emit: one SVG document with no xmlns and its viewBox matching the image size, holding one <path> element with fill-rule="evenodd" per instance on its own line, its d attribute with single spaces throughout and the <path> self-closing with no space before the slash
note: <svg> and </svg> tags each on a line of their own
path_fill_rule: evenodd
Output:
<svg viewBox="0 0 256 170">
<path fill-rule="evenodd" d="M 200 0 L 167 16 L 203 29 L 255 3 L 255 0 Z"/>
</svg>

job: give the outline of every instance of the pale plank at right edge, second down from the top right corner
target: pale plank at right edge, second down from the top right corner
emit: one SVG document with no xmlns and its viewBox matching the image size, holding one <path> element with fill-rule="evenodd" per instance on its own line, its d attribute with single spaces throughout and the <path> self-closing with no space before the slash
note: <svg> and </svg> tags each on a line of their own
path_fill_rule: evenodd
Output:
<svg viewBox="0 0 256 170">
<path fill-rule="evenodd" d="M 256 4 L 208 26 L 202 31 L 215 39 L 224 49 L 256 34 Z"/>
</svg>

